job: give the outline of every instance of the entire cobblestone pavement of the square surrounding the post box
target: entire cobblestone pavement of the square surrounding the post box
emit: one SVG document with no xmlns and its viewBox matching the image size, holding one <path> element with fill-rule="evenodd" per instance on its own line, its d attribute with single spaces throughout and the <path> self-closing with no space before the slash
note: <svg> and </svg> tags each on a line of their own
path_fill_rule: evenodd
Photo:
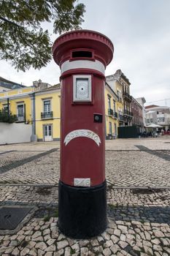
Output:
<svg viewBox="0 0 170 256">
<path fill-rule="evenodd" d="M 0 255 L 170 255 L 169 138 L 107 142 L 108 227 L 85 240 L 57 227 L 58 148 L 0 146 L 0 206 L 38 207 L 17 233 L 0 235 Z"/>
</svg>

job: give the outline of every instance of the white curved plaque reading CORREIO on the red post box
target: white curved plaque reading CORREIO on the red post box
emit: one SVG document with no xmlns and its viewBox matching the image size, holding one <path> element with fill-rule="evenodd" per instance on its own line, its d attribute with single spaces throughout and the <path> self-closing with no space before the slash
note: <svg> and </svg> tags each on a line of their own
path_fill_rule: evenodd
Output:
<svg viewBox="0 0 170 256">
<path fill-rule="evenodd" d="M 101 139 L 95 132 L 90 131 L 90 129 L 75 129 L 74 131 L 69 132 L 69 134 L 66 135 L 63 143 L 67 145 L 71 140 L 78 137 L 90 138 L 91 140 L 94 140 L 98 146 L 100 146 Z"/>
</svg>

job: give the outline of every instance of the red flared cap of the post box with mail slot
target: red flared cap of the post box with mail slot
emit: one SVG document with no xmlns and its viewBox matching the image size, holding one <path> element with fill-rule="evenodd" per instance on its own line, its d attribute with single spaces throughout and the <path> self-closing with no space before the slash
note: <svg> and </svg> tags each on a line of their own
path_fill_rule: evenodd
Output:
<svg viewBox="0 0 170 256">
<path fill-rule="evenodd" d="M 53 45 L 53 58 L 61 67 L 64 61 L 101 61 L 105 67 L 112 61 L 114 47 L 104 34 L 75 30 L 62 34 Z"/>
</svg>

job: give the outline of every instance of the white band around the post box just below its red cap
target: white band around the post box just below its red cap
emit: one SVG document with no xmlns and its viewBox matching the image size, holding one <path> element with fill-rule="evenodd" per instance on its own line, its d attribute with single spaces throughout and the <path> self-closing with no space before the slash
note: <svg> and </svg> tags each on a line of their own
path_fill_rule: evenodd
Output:
<svg viewBox="0 0 170 256">
<path fill-rule="evenodd" d="M 61 75 L 70 69 L 95 69 L 105 74 L 105 67 L 101 61 L 65 61 L 61 65 Z"/>
</svg>

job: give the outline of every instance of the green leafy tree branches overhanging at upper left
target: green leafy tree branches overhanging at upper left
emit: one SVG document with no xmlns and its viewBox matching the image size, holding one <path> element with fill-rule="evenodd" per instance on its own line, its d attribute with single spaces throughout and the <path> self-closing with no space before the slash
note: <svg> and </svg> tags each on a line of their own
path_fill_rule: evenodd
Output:
<svg viewBox="0 0 170 256">
<path fill-rule="evenodd" d="M 80 29 L 84 4 L 77 0 L 0 0 L 0 58 L 15 69 L 45 67 L 52 59 L 52 42 L 42 22 L 52 22 L 55 33 Z"/>
</svg>

